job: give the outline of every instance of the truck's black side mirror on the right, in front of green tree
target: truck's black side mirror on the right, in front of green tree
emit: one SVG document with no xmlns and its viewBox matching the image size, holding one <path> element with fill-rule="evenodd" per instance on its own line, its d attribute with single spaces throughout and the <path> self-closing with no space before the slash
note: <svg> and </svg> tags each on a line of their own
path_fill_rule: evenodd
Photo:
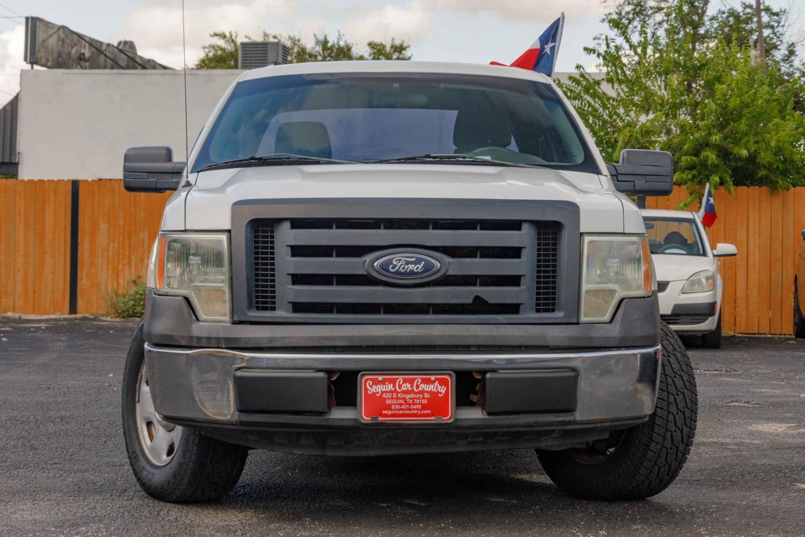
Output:
<svg viewBox="0 0 805 537">
<path fill-rule="evenodd" d="M 674 157 L 667 151 L 625 149 L 620 163 L 606 167 L 618 192 L 668 196 L 674 191 Z"/>
</svg>

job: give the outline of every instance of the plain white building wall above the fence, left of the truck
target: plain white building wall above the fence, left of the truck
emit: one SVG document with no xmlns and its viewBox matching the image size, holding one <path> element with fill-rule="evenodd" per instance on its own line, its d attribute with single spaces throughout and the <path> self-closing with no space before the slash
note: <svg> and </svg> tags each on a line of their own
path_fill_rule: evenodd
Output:
<svg viewBox="0 0 805 537">
<path fill-rule="evenodd" d="M 181 71 L 24 70 L 20 81 L 20 179 L 118 179 L 134 146 L 170 146 L 185 159 Z M 240 71 L 188 70 L 192 146 Z"/>
</svg>

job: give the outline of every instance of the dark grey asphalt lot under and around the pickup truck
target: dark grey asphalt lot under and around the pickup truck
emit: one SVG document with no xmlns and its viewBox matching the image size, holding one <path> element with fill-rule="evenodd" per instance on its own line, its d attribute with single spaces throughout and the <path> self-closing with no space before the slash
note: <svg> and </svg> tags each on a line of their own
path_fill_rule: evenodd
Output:
<svg viewBox="0 0 805 537">
<path fill-rule="evenodd" d="M 691 456 L 640 502 L 568 497 L 534 452 L 250 453 L 222 502 L 171 505 L 130 473 L 120 381 L 134 323 L 0 316 L 0 535 L 805 535 L 805 341 L 691 349 Z"/>
</svg>

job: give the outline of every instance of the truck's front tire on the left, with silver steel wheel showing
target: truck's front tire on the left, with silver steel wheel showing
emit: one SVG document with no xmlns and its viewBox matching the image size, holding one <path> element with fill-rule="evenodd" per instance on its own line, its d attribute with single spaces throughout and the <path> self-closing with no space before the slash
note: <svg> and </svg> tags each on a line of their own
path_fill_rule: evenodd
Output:
<svg viewBox="0 0 805 537">
<path fill-rule="evenodd" d="M 163 502 L 208 502 L 229 494 L 248 450 L 165 422 L 153 407 L 144 362 L 142 322 L 123 372 L 122 419 L 126 452 L 140 487 Z"/>
</svg>

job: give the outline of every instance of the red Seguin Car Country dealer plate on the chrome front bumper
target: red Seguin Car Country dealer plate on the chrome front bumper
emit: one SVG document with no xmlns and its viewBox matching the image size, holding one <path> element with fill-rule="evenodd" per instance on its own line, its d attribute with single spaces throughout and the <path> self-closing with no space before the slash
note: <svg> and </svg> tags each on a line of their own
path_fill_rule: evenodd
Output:
<svg viewBox="0 0 805 537">
<path fill-rule="evenodd" d="M 453 419 L 452 373 L 361 373 L 358 385 L 363 422 L 449 422 Z"/>
</svg>

